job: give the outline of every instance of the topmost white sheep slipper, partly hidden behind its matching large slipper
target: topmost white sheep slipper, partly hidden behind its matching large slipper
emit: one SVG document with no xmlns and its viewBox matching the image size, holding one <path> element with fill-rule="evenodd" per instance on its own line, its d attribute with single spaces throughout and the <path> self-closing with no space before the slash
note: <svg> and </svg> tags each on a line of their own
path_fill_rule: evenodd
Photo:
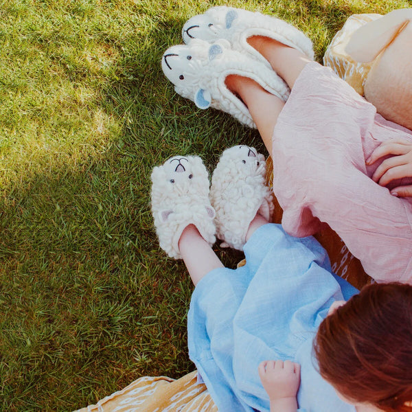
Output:
<svg viewBox="0 0 412 412">
<path fill-rule="evenodd" d="M 182 30 L 185 43 L 190 43 L 193 38 L 209 42 L 225 38 L 233 49 L 248 52 L 268 65 L 268 61 L 247 43 L 251 36 L 273 38 L 298 49 L 311 60 L 314 58 L 312 41 L 303 32 L 286 21 L 259 12 L 249 12 L 225 5 L 212 7 L 205 14 L 198 14 L 189 19 Z"/>
</svg>

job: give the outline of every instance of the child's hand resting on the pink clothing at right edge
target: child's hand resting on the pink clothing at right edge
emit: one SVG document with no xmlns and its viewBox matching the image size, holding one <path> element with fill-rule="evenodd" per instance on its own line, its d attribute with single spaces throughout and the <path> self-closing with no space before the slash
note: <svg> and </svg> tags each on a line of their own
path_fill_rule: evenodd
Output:
<svg viewBox="0 0 412 412">
<path fill-rule="evenodd" d="M 412 177 L 412 142 L 407 140 L 384 141 L 372 152 L 366 164 L 371 165 L 381 157 L 394 155 L 382 161 L 375 170 L 372 180 L 386 186 L 394 179 Z M 391 190 L 394 196 L 412 196 L 412 185 L 403 185 Z"/>
</svg>

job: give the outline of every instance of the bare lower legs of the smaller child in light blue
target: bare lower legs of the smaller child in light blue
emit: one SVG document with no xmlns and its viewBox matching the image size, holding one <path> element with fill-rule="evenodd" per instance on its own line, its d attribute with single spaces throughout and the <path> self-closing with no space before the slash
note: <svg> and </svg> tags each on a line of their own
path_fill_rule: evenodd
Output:
<svg viewBox="0 0 412 412">
<path fill-rule="evenodd" d="M 249 225 L 247 240 L 256 229 L 266 225 L 267 222 L 262 216 L 256 215 Z M 210 271 L 224 267 L 209 243 L 202 238 L 201 233 L 194 225 L 183 229 L 179 240 L 179 250 L 194 286 Z"/>
</svg>

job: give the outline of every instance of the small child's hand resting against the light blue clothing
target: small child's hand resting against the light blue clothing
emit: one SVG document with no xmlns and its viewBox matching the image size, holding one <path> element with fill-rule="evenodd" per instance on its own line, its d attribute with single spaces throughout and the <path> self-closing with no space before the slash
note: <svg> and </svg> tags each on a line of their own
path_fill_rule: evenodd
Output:
<svg viewBox="0 0 412 412">
<path fill-rule="evenodd" d="M 300 383 L 300 365 L 291 361 L 264 361 L 259 365 L 259 376 L 271 402 L 294 398 Z"/>
</svg>

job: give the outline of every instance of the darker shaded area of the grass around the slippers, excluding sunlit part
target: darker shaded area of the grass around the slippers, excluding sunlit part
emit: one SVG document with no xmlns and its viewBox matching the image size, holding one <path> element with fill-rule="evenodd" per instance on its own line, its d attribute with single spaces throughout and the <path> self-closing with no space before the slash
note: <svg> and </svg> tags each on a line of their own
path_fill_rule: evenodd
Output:
<svg viewBox="0 0 412 412">
<path fill-rule="evenodd" d="M 169 21 L 166 31 L 181 23 Z M 192 285 L 183 264 L 159 250 L 150 172 L 176 152 L 199 154 L 211 168 L 224 148 L 258 135 L 175 95 L 159 65 L 168 47 L 159 30 L 145 34 L 138 54 L 123 56 L 132 78 L 102 93 L 100 108 L 122 124 L 108 150 L 5 187 L 3 409 L 67 411 L 140 376 L 178 378 L 193 369 L 185 328 Z M 241 258 L 221 255 L 232 267 Z"/>
</svg>

